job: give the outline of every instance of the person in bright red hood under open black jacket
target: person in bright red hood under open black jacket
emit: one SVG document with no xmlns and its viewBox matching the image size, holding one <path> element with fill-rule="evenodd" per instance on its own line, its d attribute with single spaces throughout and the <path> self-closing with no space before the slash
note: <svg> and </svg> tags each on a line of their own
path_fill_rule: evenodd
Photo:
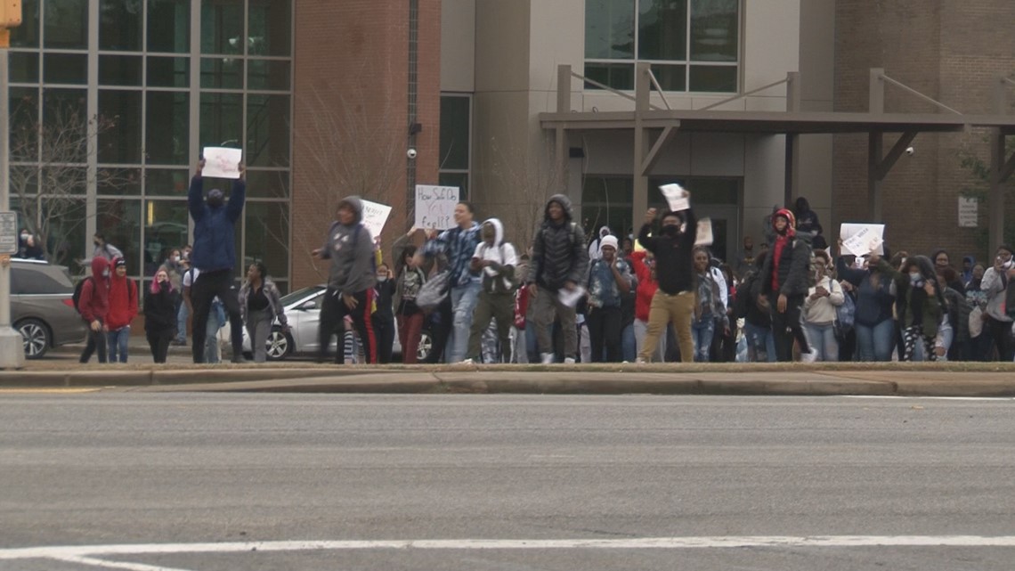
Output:
<svg viewBox="0 0 1015 571">
<path fill-rule="evenodd" d="M 800 314 L 809 288 L 811 247 L 797 238 L 796 217 L 783 208 L 771 217 L 775 239 L 761 268 L 761 295 L 768 298 L 775 359 L 793 361 L 793 340 L 800 353 L 808 354 L 807 337 Z"/>
</svg>

